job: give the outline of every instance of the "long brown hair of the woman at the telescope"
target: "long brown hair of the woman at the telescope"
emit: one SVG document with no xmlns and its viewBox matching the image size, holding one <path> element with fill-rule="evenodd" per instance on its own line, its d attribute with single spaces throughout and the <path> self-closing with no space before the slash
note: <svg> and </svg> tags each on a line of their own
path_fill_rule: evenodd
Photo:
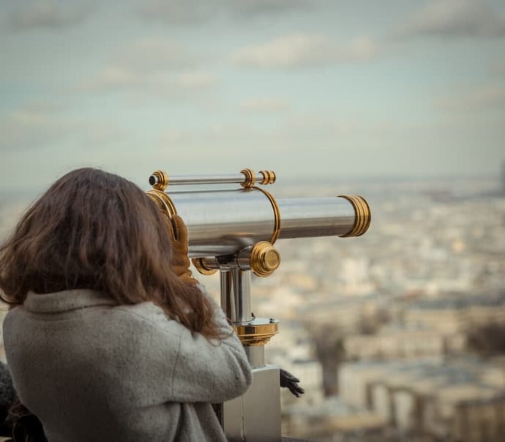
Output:
<svg viewBox="0 0 505 442">
<path fill-rule="evenodd" d="M 118 304 L 151 301 L 192 331 L 219 338 L 209 300 L 170 265 L 164 215 L 131 181 L 82 168 L 56 181 L 0 247 L 0 297 L 99 290 Z"/>
</svg>

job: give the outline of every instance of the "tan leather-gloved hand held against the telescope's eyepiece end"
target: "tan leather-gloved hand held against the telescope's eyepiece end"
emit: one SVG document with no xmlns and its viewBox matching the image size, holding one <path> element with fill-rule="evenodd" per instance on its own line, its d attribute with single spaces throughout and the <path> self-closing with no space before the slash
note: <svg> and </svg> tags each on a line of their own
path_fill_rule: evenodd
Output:
<svg viewBox="0 0 505 442">
<path fill-rule="evenodd" d="M 174 273 L 187 284 L 198 284 L 189 270 L 188 232 L 184 221 L 179 215 L 172 216 L 172 219 L 168 220 L 167 230 L 172 242 L 171 264 Z"/>
</svg>

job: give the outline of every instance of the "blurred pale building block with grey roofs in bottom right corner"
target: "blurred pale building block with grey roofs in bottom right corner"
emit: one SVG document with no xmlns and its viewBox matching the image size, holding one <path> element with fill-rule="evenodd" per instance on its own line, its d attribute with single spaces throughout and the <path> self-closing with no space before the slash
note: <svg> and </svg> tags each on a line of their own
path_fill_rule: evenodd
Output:
<svg viewBox="0 0 505 442">
<path fill-rule="evenodd" d="M 368 408 L 399 433 L 479 442 L 501 440 L 505 369 L 474 358 L 348 363 L 340 398 Z"/>
</svg>

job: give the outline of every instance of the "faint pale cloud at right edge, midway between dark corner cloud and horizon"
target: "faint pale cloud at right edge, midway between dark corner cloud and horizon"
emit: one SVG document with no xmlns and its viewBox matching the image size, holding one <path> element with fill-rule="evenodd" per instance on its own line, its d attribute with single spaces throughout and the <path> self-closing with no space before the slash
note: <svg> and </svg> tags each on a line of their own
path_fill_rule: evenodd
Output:
<svg viewBox="0 0 505 442">
<path fill-rule="evenodd" d="M 438 97 L 435 105 L 447 111 L 505 110 L 505 86 L 485 84 Z"/>
</svg>

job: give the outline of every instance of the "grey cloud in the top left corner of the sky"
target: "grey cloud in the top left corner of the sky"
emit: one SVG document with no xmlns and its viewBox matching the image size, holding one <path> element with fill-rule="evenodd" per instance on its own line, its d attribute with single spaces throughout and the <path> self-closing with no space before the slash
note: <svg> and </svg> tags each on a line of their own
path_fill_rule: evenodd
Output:
<svg viewBox="0 0 505 442">
<path fill-rule="evenodd" d="M 21 3 L 21 2 L 20 2 Z M 21 3 L 11 11 L 10 23 L 14 29 L 61 29 L 83 22 L 91 12 L 89 6 L 63 0 L 34 0 Z"/>
</svg>

